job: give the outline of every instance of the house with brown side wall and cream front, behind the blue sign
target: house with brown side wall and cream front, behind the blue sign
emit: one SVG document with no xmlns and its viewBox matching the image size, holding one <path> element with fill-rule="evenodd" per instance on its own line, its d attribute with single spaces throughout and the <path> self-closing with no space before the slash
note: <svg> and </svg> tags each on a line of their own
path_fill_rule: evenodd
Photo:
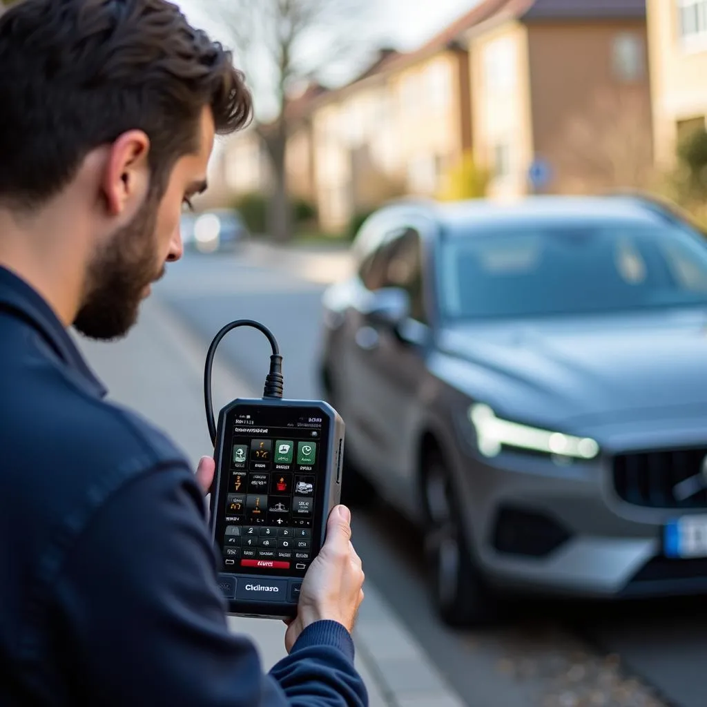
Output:
<svg viewBox="0 0 707 707">
<path fill-rule="evenodd" d="M 466 23 L 474 159 L 493 173 L 491 196 L 640 186 L 645 0 L 486 0 Z"/>
</svg>

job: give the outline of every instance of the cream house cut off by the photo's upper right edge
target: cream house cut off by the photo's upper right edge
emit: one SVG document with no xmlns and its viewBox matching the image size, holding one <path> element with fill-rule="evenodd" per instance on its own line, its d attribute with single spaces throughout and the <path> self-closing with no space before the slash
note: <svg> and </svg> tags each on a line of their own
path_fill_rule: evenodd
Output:
<svg viewBox="0 0 707 707">
<path fill-rule="evenodd" d="M 678 142 L 707 127 L 707 0 L 648 0 L 655 159 L 675 163 Z"/>
</svg>

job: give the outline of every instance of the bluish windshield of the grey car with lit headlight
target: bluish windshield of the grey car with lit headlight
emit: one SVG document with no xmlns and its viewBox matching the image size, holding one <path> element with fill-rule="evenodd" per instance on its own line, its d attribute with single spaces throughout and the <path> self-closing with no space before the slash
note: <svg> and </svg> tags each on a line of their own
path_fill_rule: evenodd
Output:
<svg viewBox="0 0 707 707">
<path fill-rule="evenodd" d="M 707 304 L 707 245 L 677 227 L 506 226 L 441 248 L 450 319 Z"/>
</svg>

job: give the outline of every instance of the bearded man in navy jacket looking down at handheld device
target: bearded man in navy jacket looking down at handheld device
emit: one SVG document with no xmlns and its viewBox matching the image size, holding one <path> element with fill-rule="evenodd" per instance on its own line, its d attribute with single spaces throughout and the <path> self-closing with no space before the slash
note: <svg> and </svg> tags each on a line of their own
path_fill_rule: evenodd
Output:
<svg viewBox="0 0 707 707">
<path fill-rule="evenodd" d="M 214 134 L 250 118 L 230 54 L 164 0 L 24 0 L 0 66 L 0 703 L 366 704 L 348 510 L 263 674 L 216 584 L 213 462 L 105 402 L 66 332 L 121 337 L 182 255 Z"/>
</svg>

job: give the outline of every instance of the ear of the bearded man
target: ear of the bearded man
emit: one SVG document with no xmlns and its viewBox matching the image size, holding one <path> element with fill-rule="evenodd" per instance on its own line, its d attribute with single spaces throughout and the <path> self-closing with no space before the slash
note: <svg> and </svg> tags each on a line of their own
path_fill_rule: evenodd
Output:
<svg viewBox="0 0 707 707">
<path fill-rule="evenodd" d="M 141 130 L 123 133 L 110 146 L 101 187 L 111 216 L 143 201 L 150 179 L 149 152 L 150 139 Z"/>
</svg>

